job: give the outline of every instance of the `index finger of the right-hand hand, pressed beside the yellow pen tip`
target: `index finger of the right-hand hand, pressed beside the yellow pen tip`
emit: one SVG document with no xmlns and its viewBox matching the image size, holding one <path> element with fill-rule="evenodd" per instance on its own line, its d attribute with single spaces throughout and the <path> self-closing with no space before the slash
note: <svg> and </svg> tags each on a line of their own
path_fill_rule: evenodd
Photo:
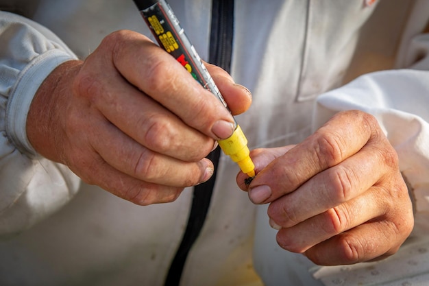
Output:
<svg viewBox="0 0 429 286">
<path fill-rule="evenodd" d="M 339 112 L 302 143 L 273 160 L 249 185 L 255 204 L 273 202 L 307 180 L 356 154 L 371 138 L 376 121 L 364 112 Z"/>
</svg>

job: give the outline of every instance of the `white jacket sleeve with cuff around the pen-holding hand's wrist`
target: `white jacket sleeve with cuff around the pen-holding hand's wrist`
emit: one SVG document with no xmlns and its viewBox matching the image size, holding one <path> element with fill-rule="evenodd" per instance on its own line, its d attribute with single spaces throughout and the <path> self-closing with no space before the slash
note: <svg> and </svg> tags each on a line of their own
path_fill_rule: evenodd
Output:
<svg viewBox="0 0 429 286">
<path fill-rule="evenodd" d="M 66 204 L 79 178 L 36 154 L 29 105 L 42 81 L 76 56 L 45 27 L 0 11 L 0 237 L 19 233 Z"/>
</svg>

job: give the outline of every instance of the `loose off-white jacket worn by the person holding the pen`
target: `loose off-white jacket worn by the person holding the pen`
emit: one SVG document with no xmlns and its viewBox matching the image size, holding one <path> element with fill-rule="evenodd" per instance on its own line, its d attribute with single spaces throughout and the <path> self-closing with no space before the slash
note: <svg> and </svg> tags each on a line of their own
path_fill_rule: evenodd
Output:
<svg viewBox="0 0 429 286">
<path fill-rule="evenodd" d="M 116 29 L 149 34 L 143 19 L 132 1 L 10 2 L 0 0 L 0 8 L 26 8 L 40 25 L 0 12 L 0 285 L 162 285 L 186 228 L 192 190 L 170 204 L 136 206 L 40 158 L 25 135 L 29 104 L 52 69 L 84 58 Z M 429 39 L 421 35 L 429 1 L 370 2 L 236 0 L 232 75 L 254 95 L 237 121 L 254 148 L 298 143 L 338 110 L 376 115 L 415 198 L 418 240 L 410 247 L 423 249 L 429 245 L 429 72 L 403 68 L 429 67 Z M 207 59 L 210 1 L 169 3 Z M 399 272 L 373 275 L 361 264 L 347 272 L 316 267 L 281 250 L 267 206 L 254 206 L 238 190 L 237 172 L 221 156 L 208 217 L 181 285 L 260 285 L 254 267 L 265 285 L 339 285 L 365 275 L 380 278 L 379 285 L 400 279 Z M 417 250 L 374 267 L 404 270 L 395 258 L 428 258 Z M 414 276 L 422 277 L 428 265 Z"/>
</svg>

